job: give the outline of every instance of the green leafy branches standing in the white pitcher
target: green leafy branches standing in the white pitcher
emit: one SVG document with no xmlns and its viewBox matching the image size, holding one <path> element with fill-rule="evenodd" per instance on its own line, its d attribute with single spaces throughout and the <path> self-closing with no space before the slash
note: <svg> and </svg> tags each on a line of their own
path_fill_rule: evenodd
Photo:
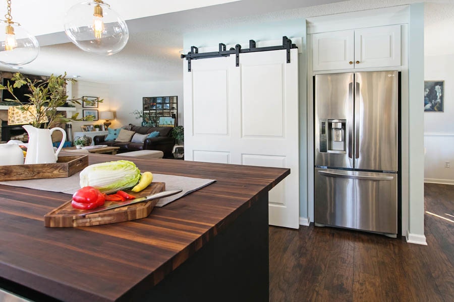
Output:
<svg viewBox="0 0 454 302">
<path fill-rule="evenodd" d="M 14 84 L 11 85 L 11 82 Z M 7 99 L 7 101 L 17 103 L 20 106 L 20 110 L 28 111 L 33 116 L 33 120 L 30 122 L 32 126 L 39 128 L 44 124 L 44 128 L 50 128 L 57 122 L 93 120 L 93 116 L 78 118 L 78 113 L 68 118 L 57 111 L 58 107 L 63 107 L 67 102 L 81 104 L 78 100 L 68 100 L 66 95 L 66 85 L 75 82 L 77 81 L 74 79 L 66 78 L 66 72 L 63 75 L 52 74 L 47 81 L 31 81 L 25 78 L 22 73 L 17 72 L 7 86 L 0 85 L 0 90 L 8 90 L 14 99 Z M 20 88 L 23 85 L 26 85 L 31 92 L 31 94 L 25 95 L 30 99 L 30 103 L 27 104 L 19 101 L 13 92 L 13 88 Z M 102 100 L 98 102 L 102 102 Z M 35 108 L 36 110 L 34 110 Z"/>
</svg>

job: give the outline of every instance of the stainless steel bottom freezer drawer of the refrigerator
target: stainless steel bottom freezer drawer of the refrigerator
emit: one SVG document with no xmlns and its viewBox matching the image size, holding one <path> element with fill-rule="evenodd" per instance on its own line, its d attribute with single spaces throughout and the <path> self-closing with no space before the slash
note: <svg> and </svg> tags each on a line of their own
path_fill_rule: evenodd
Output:
<svg viewBox="0 0 454 302">
<path fill-rule="evenodd" d="M 397 234 L 397 175 L 315 169 L 314 221 Z"/>
</svg>

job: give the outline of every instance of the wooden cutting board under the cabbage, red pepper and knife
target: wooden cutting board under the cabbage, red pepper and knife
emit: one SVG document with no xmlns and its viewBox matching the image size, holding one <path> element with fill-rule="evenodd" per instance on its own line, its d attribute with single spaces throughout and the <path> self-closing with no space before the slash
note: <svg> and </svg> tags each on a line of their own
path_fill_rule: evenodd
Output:
<svg viewBox="0 0 454 302">
<path fill-rule="evenodd" d="M 158 193 L 165 190 L 165 183 L 154 182 L 146 189 L 139 193 L 134 193 L 129 190 L 125 192 L 134 196 L 143 197 Z M 84 217 L 79 216 L 84 210 L 74 209 L 71 205 L 71 200 L 65 202 L 58 208 L 55 208 L 44 215 L 44 225 L 50 228 L 66 228 L 71 226 L 89 226 L 107 223 L 116 223 L 129 221 L 148 216 L 159 199 L 148 200 L 131 205 L 122 206 L 119 208 L 106 210 L 98 213 L 88 214 Z M 106 201 L 105 205 L 115 204 L 115 201 Z"/>
</svg>

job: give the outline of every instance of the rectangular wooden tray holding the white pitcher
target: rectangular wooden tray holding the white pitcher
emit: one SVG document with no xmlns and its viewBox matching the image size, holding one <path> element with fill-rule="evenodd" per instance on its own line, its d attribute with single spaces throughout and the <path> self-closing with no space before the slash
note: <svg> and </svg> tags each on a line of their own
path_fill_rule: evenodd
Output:
<svg viewBox="0 0 454 302">
<path fill-rule="evenodd" d="M 0 180 L 70 177 L 88 166 L 88 155 L 59 156 L 55 164 L 0 166 Z"/>
</svg>

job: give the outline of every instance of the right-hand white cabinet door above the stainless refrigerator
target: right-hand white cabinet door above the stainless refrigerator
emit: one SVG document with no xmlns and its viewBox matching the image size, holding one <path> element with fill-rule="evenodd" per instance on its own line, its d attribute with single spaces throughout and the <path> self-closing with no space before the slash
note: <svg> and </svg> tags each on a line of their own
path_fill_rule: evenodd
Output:
<svg viewBox="0 0 454 302">
<path fill-rule="evenodd" d="M 355 30 L 355 68 L 401 65 L 401 26 Z"/>
</svg>

